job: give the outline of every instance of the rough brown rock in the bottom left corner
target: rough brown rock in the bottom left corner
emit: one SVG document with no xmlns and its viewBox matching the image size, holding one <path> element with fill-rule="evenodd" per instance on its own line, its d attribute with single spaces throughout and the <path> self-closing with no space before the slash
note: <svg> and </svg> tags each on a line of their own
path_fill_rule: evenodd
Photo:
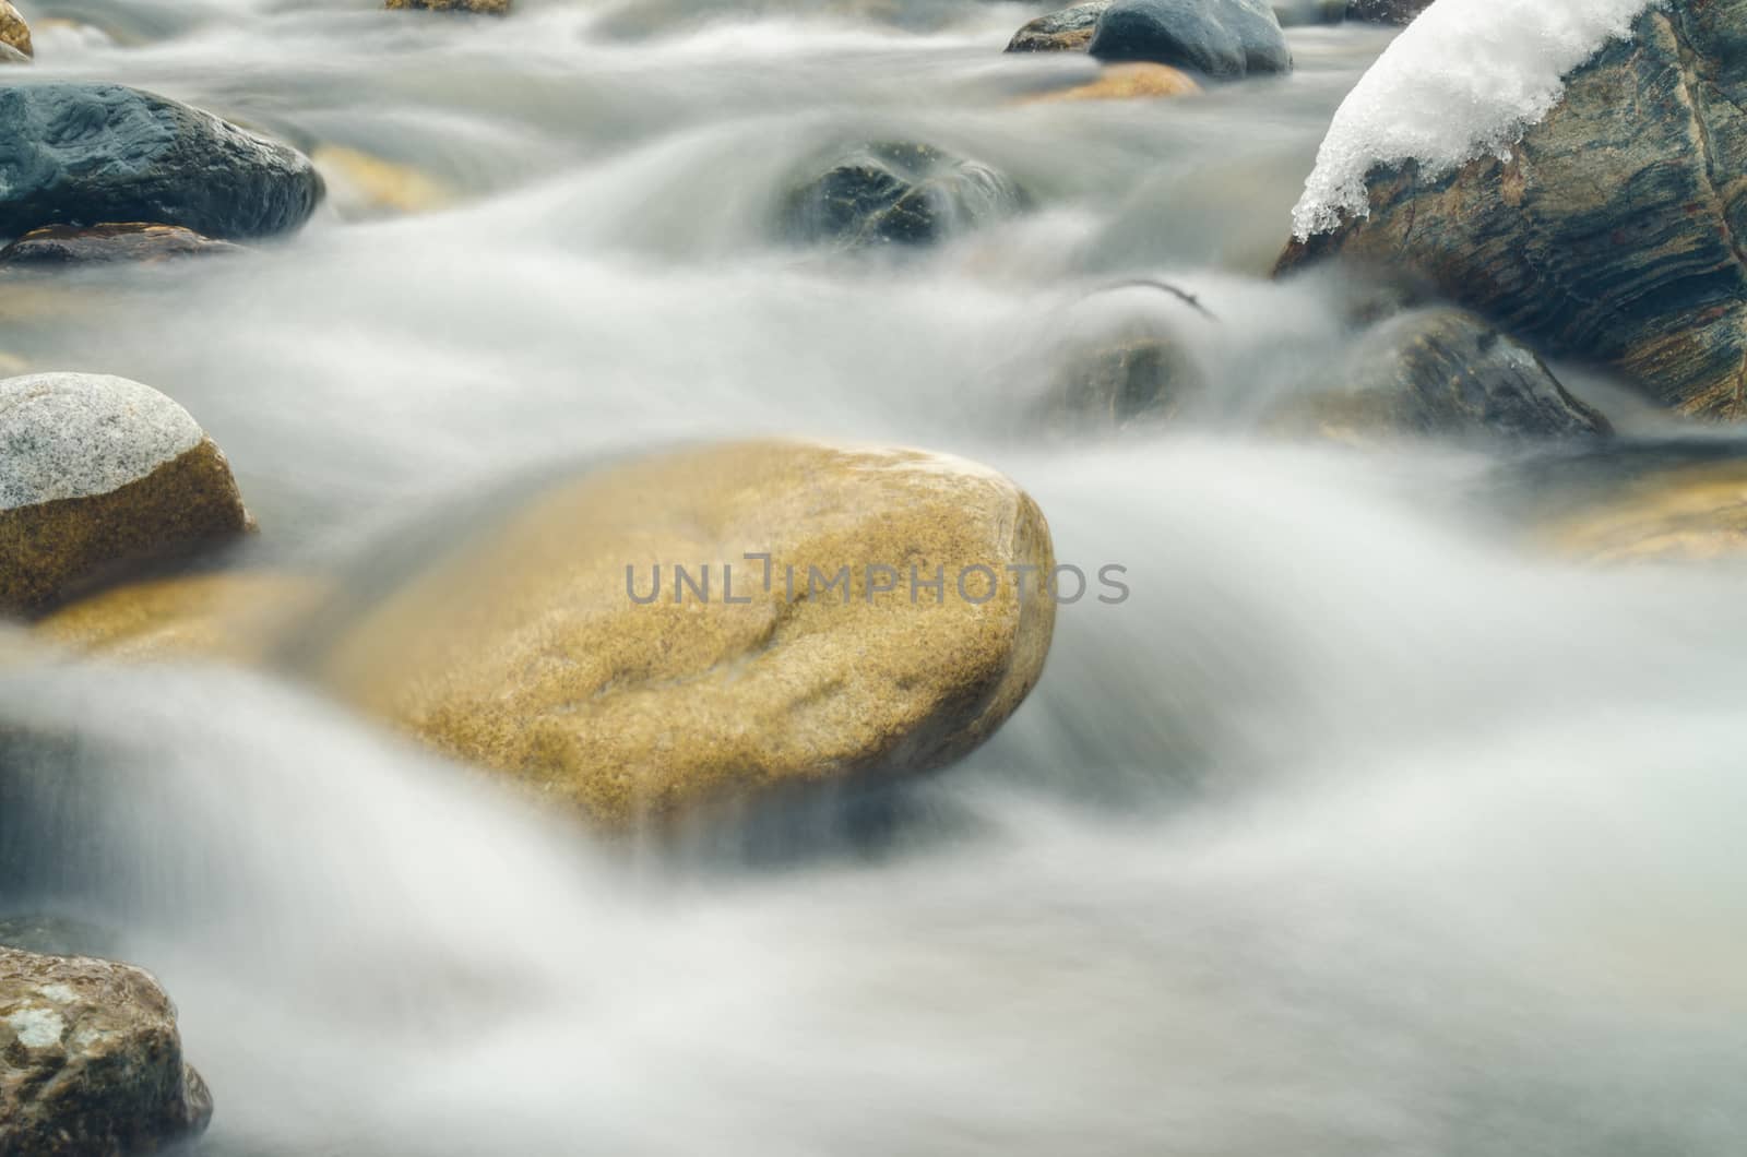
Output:
<svg viewBox="0 0 1747 1157">
<path fill-rule="evenodd" d="M 0 947 L 0 1152 L 152 1152 L 203 1133 L 211 1112 L 150 973 Z"/>
</svg>

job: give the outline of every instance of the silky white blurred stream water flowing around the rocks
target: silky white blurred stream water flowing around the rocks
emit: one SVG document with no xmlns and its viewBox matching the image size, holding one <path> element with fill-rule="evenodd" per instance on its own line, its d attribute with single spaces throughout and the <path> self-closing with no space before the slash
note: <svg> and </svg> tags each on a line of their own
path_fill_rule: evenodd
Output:
<svg viewBox="0 0 1747 1157">
<path fill-rule="evenodd" d="M 1265 274 L 1387 33 L 1295 28 L 1295 75 L 1197 100 L 1038 103 L 1092 66 L 1001 56 L 1027 5 L 519 7 L 38 0 L 33 77 L 404 163 L 447 206 L 335 187 L 252 259 L 0 297 L 0 350 L 187 405 L 252 561 L 367 566 L 529 463 L 781 432 L 989 461 L 1134 594 L 1062 608 L 1008 727 L 877 816 L 659 849 L 273 673 L 0 668 L 0 725 L 61 738 L 0 818 L 0 916 L 161 975 L 201 1152 L 1742 1152 L 1740 570 L 1525 551 L 1485 451 L 1254 432 L 1343 341 L 1354 287 Z M 781 243 L 795 166 L 870 136 L 1036 204 L 901 262 Z M 1211 398 L 1029 418 L 1067 336 L 1183 309 L 1099 292 L 1157 278 L 1218 318 Z"/>
</svg>

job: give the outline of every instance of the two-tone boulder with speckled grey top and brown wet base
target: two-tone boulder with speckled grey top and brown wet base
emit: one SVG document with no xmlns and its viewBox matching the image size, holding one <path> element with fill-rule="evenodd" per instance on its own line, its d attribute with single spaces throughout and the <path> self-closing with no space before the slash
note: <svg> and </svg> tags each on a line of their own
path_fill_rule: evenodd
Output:
<svg viewBox="0 0 1747 1157">
<path fill-rule="evenodd" d="M 28 613 L 250 526 L 185 409 L 126 378 L 0 381 L 0 613 Z"/>
</svg>

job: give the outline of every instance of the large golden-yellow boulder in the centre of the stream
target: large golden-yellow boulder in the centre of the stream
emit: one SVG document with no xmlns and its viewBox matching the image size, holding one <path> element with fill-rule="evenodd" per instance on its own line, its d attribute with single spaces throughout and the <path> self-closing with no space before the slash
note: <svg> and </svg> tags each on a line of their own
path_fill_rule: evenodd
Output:
<svg viewBox="0 0 1747 1157">
<path fill-rule="evenodd" d="M 1043 669 L 1052 566 L 1036 503 L 984 467 L 728 444 L 549 486 L 290 661 L 624 828 L 964 755 Z"/>
</svg>

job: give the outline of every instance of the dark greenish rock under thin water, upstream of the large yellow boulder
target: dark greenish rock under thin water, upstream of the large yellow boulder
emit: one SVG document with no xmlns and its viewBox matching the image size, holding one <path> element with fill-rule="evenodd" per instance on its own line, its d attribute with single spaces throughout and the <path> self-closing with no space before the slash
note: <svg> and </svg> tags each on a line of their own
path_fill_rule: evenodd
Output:
<svg viewBox="0 0 1747 1157">
<path fill-rule="evenodd" d="M 1024 191 L 980 161 L 877 142 L 811 166 L 783 204 L 783 227 L 846 248 L 929 245 L 1024 206 Z"/>
</svg>

